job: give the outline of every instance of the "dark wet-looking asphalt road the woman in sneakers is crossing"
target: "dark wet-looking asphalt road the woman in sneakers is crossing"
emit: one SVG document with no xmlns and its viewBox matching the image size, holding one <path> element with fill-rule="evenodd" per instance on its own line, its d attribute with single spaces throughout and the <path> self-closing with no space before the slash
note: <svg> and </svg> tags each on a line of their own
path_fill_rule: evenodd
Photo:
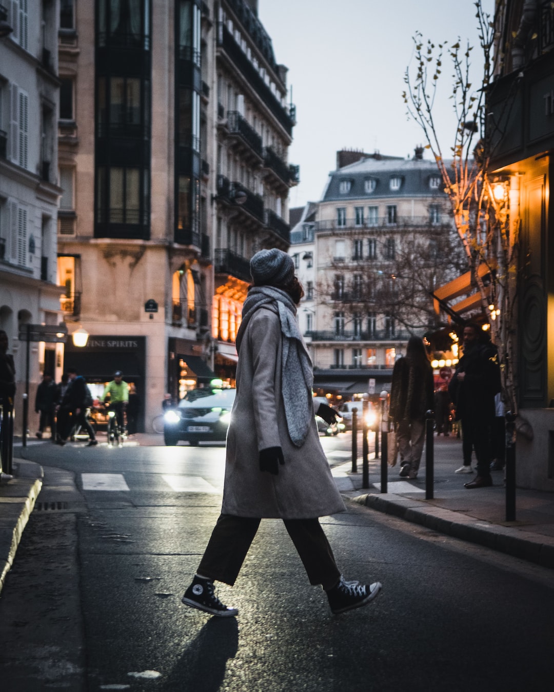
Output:
<svg viewBox="0 0 554 692">
<path fill-rule="evenodd" d="M 332 463 L 349 443 L 323 439 Z M 0 599 L 3 692 L 551 686 L 551 570 L 350 504 L 322 523 L 347 578 L 382 581 L 375 603 L 333 616 L 265 520 L 219 589 L 238 618 L 215 619 L 180 599 L 219 513 L 222 446 L 22 455 L 46 482 Z"/>
</svg>

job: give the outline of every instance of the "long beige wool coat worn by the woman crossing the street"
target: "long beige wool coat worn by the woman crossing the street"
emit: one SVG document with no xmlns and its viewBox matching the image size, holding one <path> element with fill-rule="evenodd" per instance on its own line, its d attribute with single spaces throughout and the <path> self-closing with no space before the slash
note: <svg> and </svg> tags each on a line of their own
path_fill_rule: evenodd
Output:
<svg viewBox="0 0 554 692">
<path fill-rule="evenodd" d="M 242 336 L 237 395 L 227 433 L 222 513 L 242 517 L 311 519 L 345 511 L 317 431 L 292 444 L 281 394 L 280 320 L 260 307 Z M 278 475 L 260 471 L 259 452 L 283 449 Z"/>
</svg>

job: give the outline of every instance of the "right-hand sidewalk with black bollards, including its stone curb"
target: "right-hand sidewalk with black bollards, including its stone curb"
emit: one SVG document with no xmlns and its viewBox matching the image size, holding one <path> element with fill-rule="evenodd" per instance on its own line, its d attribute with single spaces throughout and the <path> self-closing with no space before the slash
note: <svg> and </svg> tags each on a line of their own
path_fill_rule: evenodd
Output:
<svg viewBox="0 0 554 692">
<path fill-rule="evenodd" d="M 361 457 L 358 473 L 351 473 L 352 462 L 333 468 L 337 486 L 343 497 L 371 509 L 554 568 L 554 493 L 516 489 L 516 521 L 507 522 L 504 472 L 491 472 L 490 488 L 467 490 L 474 475 L 454 473 L 462 465 L 461 441 L 440 436 L 434 443 L 433 500 L 425 500 L 425 450 L 416 480 L 400 478 L 399 465 L 388 468 L 388 493 L 380 493 L 379 459 L 369 462 L 368 489 L 362 489 Z"/>
</svg>

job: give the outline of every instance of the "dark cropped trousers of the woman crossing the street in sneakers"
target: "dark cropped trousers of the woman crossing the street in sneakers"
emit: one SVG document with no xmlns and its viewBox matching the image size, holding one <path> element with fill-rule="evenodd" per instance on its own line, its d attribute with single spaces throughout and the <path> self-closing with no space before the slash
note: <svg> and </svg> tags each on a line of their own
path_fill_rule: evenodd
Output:
<svg viewBox="0 0 554 692">
<path fill-rule="evenodd" d="M 283 519 L 283 522 L 310 584 L 321 584 L 325 590 L 330 589 L 339 581 L 341 573 L 319 520 Z M 258 518 L 221 514 L 199 564 L 198 574 L 232 586 L 259 525 Z"/>
</svg>

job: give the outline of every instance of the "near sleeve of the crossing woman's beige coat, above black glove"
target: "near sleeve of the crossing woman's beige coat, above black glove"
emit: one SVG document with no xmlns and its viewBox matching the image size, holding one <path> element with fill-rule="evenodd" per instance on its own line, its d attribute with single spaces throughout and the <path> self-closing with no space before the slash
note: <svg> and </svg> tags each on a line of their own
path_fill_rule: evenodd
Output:
<svg viewBox="0 0 554 692">
<path fill-rule="evenodd" d="M 280 447 L 278 429 L 278 402 L 276 370 L 281 340 L 280 322 L 269 310 L 260 310 L 249 325 L 249 341 L 252 354 L 252 406 L 258 451 L 268 447 Z"/>
</svg>

